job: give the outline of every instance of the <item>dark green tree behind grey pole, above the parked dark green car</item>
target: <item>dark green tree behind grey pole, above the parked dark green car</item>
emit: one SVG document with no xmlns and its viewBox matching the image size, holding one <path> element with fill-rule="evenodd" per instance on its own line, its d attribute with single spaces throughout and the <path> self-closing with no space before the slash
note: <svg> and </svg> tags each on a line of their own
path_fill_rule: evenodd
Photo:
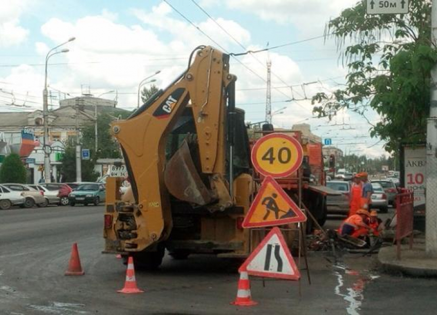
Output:
<svg viewBox="0 0 437 315">
<path fill-rule="evenodd" d="M 61 175 L 62 182 L 76 182 L 76 146 L 72 143 L 67 144 L 65 151 L 61 159 Z M 95 182 L 99 176 L 97 172 L 94 171 L 94 161 L 92 160 L 82 160 L 82 181 L 84 182 Z"/>
</svg>

